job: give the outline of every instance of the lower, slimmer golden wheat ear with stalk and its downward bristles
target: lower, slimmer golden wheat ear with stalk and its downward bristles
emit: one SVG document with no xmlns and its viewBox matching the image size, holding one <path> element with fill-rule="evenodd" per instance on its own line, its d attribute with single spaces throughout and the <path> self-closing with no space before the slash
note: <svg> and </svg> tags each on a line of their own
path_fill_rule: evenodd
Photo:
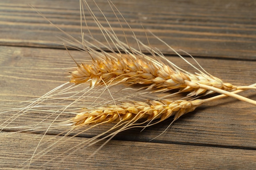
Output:
<svg viewBox="0 0 256 170">
<path fill-rule="evenodd" d="M 256 86 L 256 84 L 250 85 L 250 87 L 252 86 Z M 242 91 L 244 90 L 237 90 L 231 93 L 240 93 Z M 169 124 L 169 126 L 171 126 L 171 124 L 173 124 L 174 121 L 176 121 L 180 116 L 184 115 L 185 113 L 189 113 L 193 111 L 195 108 L 197 108 L 198 106 L 201 106 L 204 103 L 212 102 L 213 100 L 221 99 L 224 97 L 227 97 L 227 96 L 218 95 L 218 96 L 210 97 L 207 99 L 195 99 L 193 101 L 163 100 L 163 101 L 149 101 L 147 103 L 133 101 L 133 102 L 123 102 L 117 105 L 106 105 L 106 106 L 90 108 L 90 109 L 87 108 L 86 110 L 82 109 L 81 113 L 79 113 L 78 115 L 76 115 L 76 117 L 67 121 L 67 122 L 72 122 L 72 126 L 70 126 L 71 130 L 66 131 L 67 134 L 65 134 L 64 137 L 72 133 L 72 131 L 76 132 L 76 135 L 72 136 L 72 137 L 75 137 L 91 128 L 94 128 L 101 124 L 110 123 L 112 121 L 115 121 L 116 124 L 112 126 L 112 128 L 110 128 L 109 130 L 99 135 L 96 135 L 90 139 L 86 139 L 85 141 L 80 143 L 78 146 L 71 147 L 70 149 L 66 150 L 62 154 L 69 153 L 69 152 L 76 152 L 76 150 L 80 149 L 81 146 L 83 146 L 84 148 L 88 148 L 98 143 L 99 141 L 107 139 L 92 154 L 94 155 L 108 141 L 110 141 L 110 139 L 115 137 L 115 135 L 117 135 L 119 132 L 128 130 L 130 128 L 135 128 L 135 127 L 146 128 L 148 126 L 152 126 L 161 121 L 164 121 L 171 115 L 174 115 L 173 121 Z M 88 126 L 88 128 L 85 128 L 86 126 Z M 52 144 L 48 148 L 45 148 L 44 150 L 33 155 L 33 157 L 31 157 L 31 159 L 29 160 L 31 161 L 36 156 L 40 158 L 42 156 L 41 155 L 42 153 L 50 152 L 51 147 L 59 142 L 63 142 L 63 144 L 65 144 L 65 140 L 63 141 L 63 139 L 61 138 L 58 141 L 55 141 L 54 144 Z M 58 158 L 61 155 L 58 155 L 55 158 Z"/>
</svg>

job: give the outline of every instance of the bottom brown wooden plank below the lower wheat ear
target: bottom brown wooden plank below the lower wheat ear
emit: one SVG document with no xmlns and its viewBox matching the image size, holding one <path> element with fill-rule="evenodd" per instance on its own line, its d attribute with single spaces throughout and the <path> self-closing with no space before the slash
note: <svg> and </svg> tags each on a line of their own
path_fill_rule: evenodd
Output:
<svg viewBox="0 0 256 170">
<path fill-rule="evenodd" d="M 38 140 L 31 139 L 41 137 L 42 135 L 25 133 L 1 137 L 0 145 L 4 152 L 0 152 L 0 169 L 26 168 L 27 163 L 24 162 L 33 153 L 28 151 L 33 151 L 38 144 L 36 142 Z M 52 138 L 52 136 L 46 135 L 44 138 Z M 56 137 L 56 140 L 59 138 Z M 94 152 L 99 145 L 87 149 L 83 149 L 82 146 L 79 149 L 72 148 L 81 144 L 85 139 L 76 137 L 65 146 L 46 153 L 40 159 L 34 157 L 30 169 L 252 170 L 256 166 L 255 150 L 115 140 L 110 141 L 88 159 L 88 155 Z M 67 157 L 71 151 L 68 153 L 65 151 L 70 148 L 77 150 Z"/>
</svg>

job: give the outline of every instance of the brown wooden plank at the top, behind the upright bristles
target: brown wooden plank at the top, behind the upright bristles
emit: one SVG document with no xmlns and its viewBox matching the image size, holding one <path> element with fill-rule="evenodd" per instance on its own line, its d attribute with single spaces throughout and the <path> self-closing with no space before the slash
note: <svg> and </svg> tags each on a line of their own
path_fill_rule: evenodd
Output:
<svg viewBox="0 0 256 170">
<path fill-rule="evenodd" d="M 56 35 L 61 35 L 54 26 L 31 9 L 27 3 L 32 3 L 56 26 L 75 38 L 81 38 L 79 2 L 63 0 L 6 0 L 0 2 L 0 44 L 14 46 L 54 47 L 53 44 L 42 42 L 63 43 Z M 175 49 L 182 49 L 194 56 L 229 57 L 242 60 L 255 60 L 256 53 L 256 4 L 254 0 L 216 0 L 214 4 L 202 0 L 186 2 L 140 1 L 113 3 L 121 11 L 137 38 L 147 44 L 141 24 Z M 121 40 L 123 32 L 118 20 L 112 13 L 108 2 L 97 0 L 103 9 L 112 28 Z M 89 1 L 95 15 L 104 26 L 108 26 L 96 5 Z M 92 18 L 85 13 L 89 29 L 99 41 L 104 41 L 99 28 L 93 24 Z M 120 17 L 120 16 L 119 16 Z M 136 47 L 132 33 L 124 20 L 129 43 Z M 85 31 L 85 29 L 84 29 Z M 88 32 L 85 32 L 85 34 Z M 173 54 L 164 44 L 148 34 L 150 44 L 157 46 L 163 53 Z M 63 48 L 63 46 L 55 45 Z"/>
</svg>

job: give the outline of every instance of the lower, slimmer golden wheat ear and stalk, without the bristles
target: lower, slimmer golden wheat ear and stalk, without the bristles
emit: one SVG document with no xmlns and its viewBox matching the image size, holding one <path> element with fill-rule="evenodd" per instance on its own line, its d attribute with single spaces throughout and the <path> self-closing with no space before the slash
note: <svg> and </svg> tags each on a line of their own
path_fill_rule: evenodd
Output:
<svg viewBox="0 0 256 170">
<path fill-rule="evenodd" d="M 249 87 L 253 87 L 252 84 Z M 231 92 L 231 94 L 240 93 L 243 90 Z M 227 97 L 226 94 L 210 97 L 207 99 L 187 100 L 158 100 L 149 102 L 122 102 L 115 105 L 106 105 L 97 108 L 83 108 L 81 113 L 70 119 L 73 126 L 86 126 L 97 123 L 110 123 L 112 121 L 129 121 L 132 119 L 146 119 L 153 121 L 159 119 L 163 121 L 174 115 L 174 120 L 185 113 L 195 110 L 203 103 L 211 102 L 215 99 Z"/>
</svg>

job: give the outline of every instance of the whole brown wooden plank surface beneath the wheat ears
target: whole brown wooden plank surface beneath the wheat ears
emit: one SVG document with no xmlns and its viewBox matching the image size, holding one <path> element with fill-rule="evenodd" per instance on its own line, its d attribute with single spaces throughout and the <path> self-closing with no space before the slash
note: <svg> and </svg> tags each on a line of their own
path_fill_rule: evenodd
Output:
<svg viewBox="0 0 256 170">
<path fill-rule="evenodd" d="M 95 15 L 106 21 L 90 2 Z M 33 4 L 56 26 L 75 38 L 80 33 L 79 0 L 5 0 L 0 2 L 0 101 L 22 102 L 52 90 L 68 81 L 63 61 L 70 59 L 56 35 L 63 35 L 28 5 Z M 212 75 L 235 85 L 256 82 L 256 2 L 254 0 L 154 1 L 113 0 L 137 38 L 147 43 L 144 29 L 149 29 L 173 48 L 193 56 Z M 105 0 L 99 7 L 121 36 L 120 25 Z M 92 19 L 87 21 L 95 38 L 102 40 Z M 124 21 L 121 21 L 125 24 Z M 126 29 L 126 28 L 125 28 Z M 127 34 L 131 45 L 132 36 Z M 168 60 L 182 68 L 189 66 L 173 52 L 148 35 L 150 44 L 163 51 Z M 75 58 L 90 59 L 80 51 L 70 51 Z M 70 61 L 70 60 L 69 60 Z M 256 100 L 255 91 L 242 95 Z M 8 118 L 8 113 L 0 119 Z M 31 119 L 24 118 L 24 122 Z M 171 119 L 170 119 L 171 121 Z M 142 132 L 135 128 L 121 132 L 88 158 L 100 144 L 66 153 L 50 163 L 56 155 L 80 144 L 87 137 L 103 132 L 95 128 L 67 144 L 52 150 L 31 164 L 31 169 L 220 169 L 252 170 L 256 167 L 255 106 L 225 98 L 205 104 L 178 119 L 164 134 L 170 122 L 164 121 Z M 0 169 L 19 169 L 29 159 L 41 139 L 40 134 L 2 131 Z M 54 133 L 45 138 L 52 138 Z M 58 140 L 60 137 L 56 137 Z M 30 151 L 30 152 L 29 152 Z"/>
</svg>

